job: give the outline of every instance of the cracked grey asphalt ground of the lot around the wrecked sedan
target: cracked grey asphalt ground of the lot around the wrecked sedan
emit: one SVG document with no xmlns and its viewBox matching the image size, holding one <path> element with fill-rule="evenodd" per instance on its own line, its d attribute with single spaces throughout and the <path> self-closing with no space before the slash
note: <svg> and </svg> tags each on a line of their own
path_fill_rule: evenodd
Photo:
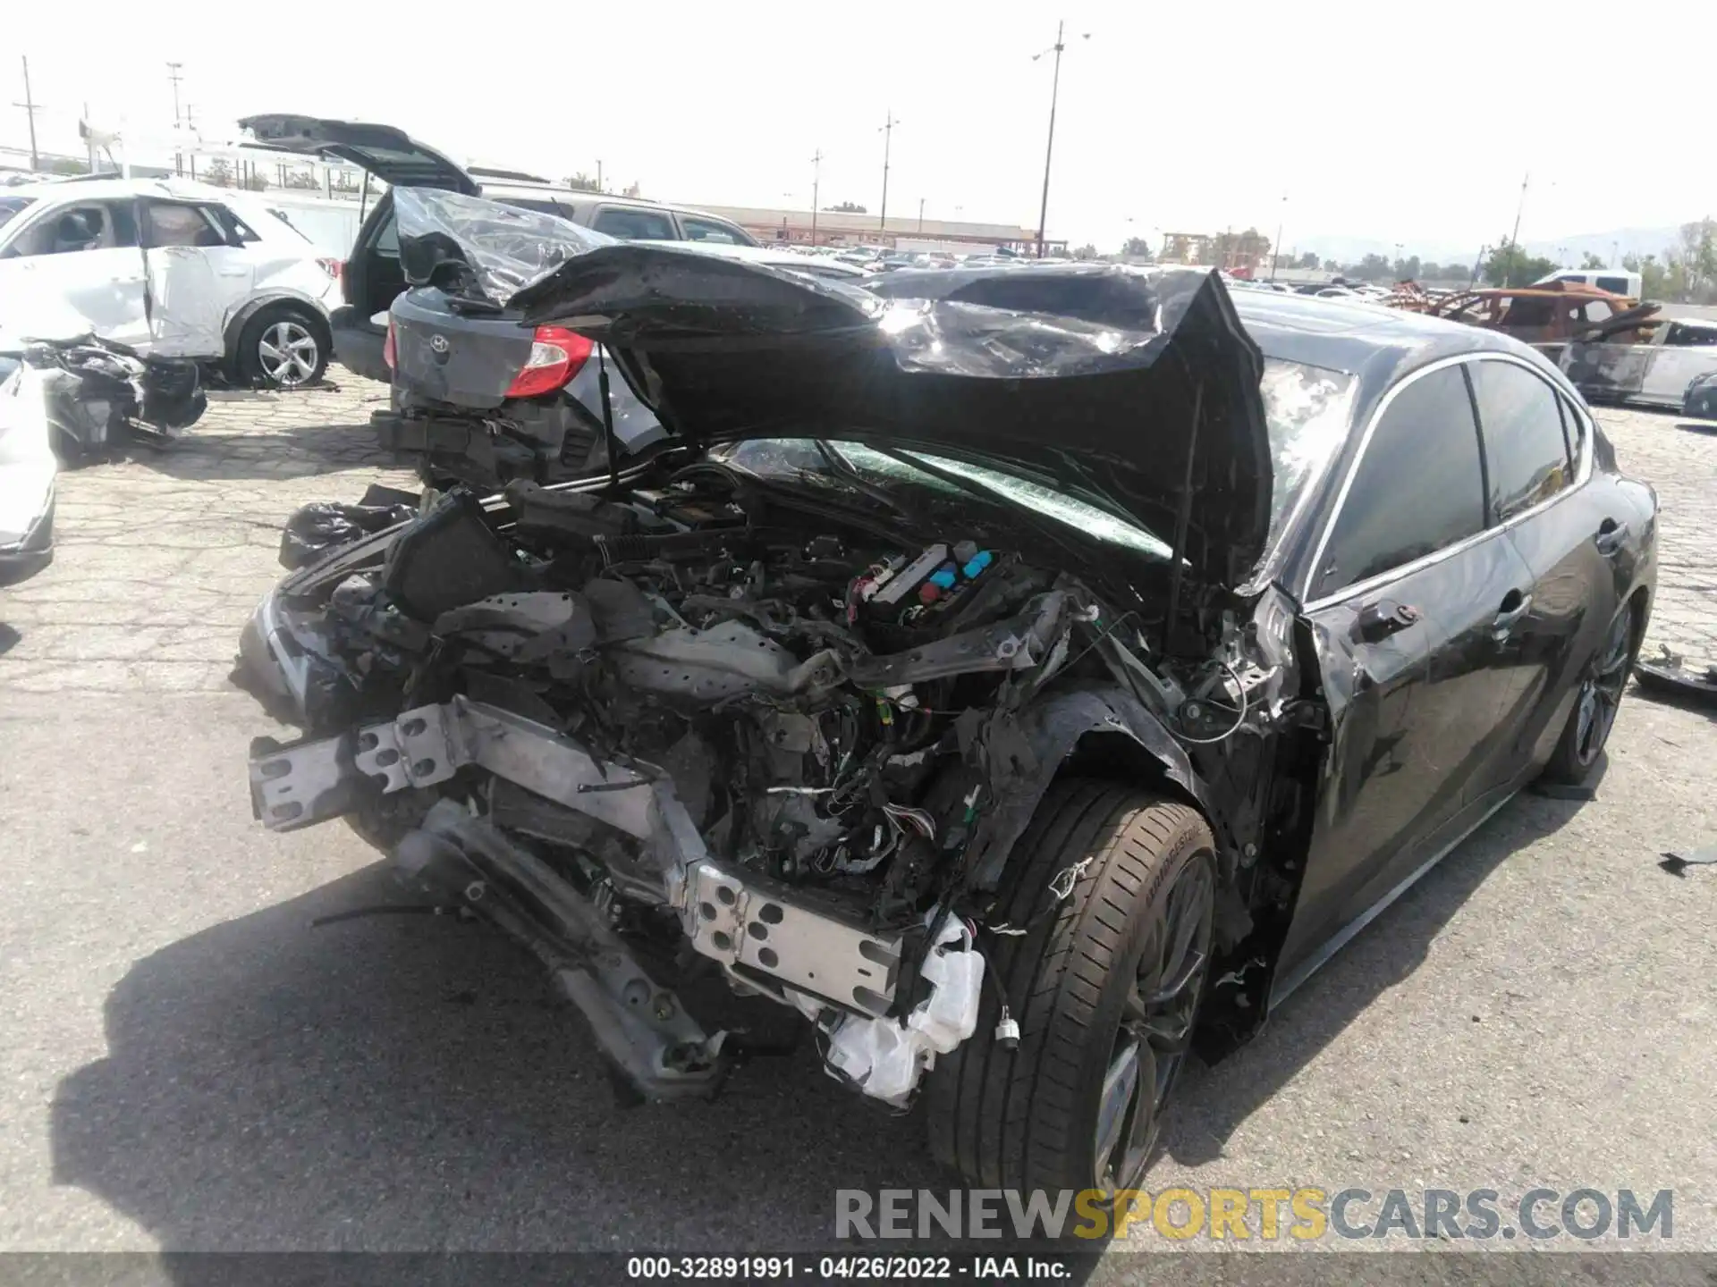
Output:
<svg viewBox="0 0 1717 1287">
<path fill-rule="evenodd" d="M 537 966 L 397 901 L 340 825 L 252 824 L 227 685 L 309 499 L 405 482 L 379 388 L 218 395 L 62 479 L 0 592 L 0 1249 L 783 1249 L 836 1187 L 948 1187 L 804 1052 L 620 1112 Z M 1602 412 L 1664 499 L 1648 649 L 1717 661 L 1717 436 Z M 1152 1187 L 1669 1187 L 1717 1249 L 1717 722 L 1631 692 L 1593 801 L 1523 796 L 1193 1069 Z M 1138 1246 L 1161 1246 L 1142 1241 Z"/>
</svg>

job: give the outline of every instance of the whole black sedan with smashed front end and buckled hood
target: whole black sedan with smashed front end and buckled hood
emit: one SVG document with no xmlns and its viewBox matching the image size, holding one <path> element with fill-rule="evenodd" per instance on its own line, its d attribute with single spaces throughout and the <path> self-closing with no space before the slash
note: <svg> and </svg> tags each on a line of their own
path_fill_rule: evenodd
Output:
<svg viewBox="0 0 1717 1287">
<path fill-rule="evenodd" d="M 970 1182 L 1133 1186 L 1188 1052 L 1604 750 L 1657 503 L 1520 343 L 1107 266 L 510 292 L 464 201 L 433 288 L 596 341 L 668 439 L 288 577 L 252 800 L 529 947 L 644 1098 L 730 1072 L 707 975 Z"/>
</svg>

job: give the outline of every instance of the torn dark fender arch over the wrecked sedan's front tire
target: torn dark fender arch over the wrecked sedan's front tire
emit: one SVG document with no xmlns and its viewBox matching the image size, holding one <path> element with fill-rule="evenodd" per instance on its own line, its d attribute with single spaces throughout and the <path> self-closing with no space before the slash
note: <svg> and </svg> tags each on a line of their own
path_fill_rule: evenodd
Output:
<svg viewBox="0 0 1717 1287">
<path fill-rule="evenodd" d="M 1161 772 L 1162 781 L 1210 815 L 1207 786 L 1186 750 L 1137 697 L 1116 685 L 1063 688 L 1025 710 L 1001 712 L 989 724 L 984 753 L 992 803 L 972 832 L 968 853 L 968 870 L 979 889 L 1001 884 L 1037 803 L 1068 757 L 1092 734 L 1130 743 L 1150 772 Z"/>
</svg>

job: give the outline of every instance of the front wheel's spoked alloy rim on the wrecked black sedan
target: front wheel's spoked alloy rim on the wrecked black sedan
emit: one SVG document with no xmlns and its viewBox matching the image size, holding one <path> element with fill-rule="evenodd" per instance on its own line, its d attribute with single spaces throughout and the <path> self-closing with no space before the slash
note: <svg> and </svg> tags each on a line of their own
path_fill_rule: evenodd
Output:
<svg viewBox="0 0 1717 1287">
<path fill-rule="evenodd" d="M 1157 1143 L 1169 1090 L 1192 1045 L 1210 961 L 1216 870 L 1193 855 L 1149 927 L 1097 1105 L 1097 1186 L 1137 1187 Z"/>
</svg>

